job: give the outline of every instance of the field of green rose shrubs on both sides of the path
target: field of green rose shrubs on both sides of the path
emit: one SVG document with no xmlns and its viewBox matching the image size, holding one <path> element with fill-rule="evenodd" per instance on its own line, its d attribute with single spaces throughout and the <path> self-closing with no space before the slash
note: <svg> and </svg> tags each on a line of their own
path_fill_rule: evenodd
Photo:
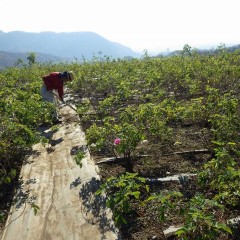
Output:
<svg viewBox="0 0 240 240">
<path fill-rule="evenodd" d="M 0 72 L 0 195 L 9 192 L 37 131 L 51 123 L 41 77 L 72 70 L 68 85 L 123 239 L 239 239 L 240 51 L 38 64 Z M 80 154 L 81 155 L 81 154 Z M 163 181 L 178 176 L 178 181 Z"/>
</svg>

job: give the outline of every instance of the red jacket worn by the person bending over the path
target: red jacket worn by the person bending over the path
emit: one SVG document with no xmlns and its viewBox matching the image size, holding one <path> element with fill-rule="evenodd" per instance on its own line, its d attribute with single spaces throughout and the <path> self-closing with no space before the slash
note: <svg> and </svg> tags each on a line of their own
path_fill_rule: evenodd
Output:
<svg viewBox="0 0 240 240">
<path fill-rule="evenodd" d="M 44 76 L 43 81 L 48 91 L 57 90 L 59 98 L 63 99 L 63 81 L 59 72 L 52 72 Z"/>
</svg>

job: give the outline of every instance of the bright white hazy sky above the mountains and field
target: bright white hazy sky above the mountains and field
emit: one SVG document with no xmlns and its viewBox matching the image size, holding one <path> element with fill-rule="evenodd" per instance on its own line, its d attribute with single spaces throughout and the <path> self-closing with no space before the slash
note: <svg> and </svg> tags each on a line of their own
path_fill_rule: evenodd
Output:
<svg viewBox="0 0 240 240">
<path fill-rule="evenodd" d="M 240 44 L 238 0 L 0 0 L 0 30 L 91 31 L 134 51 Z"/>
</svg>

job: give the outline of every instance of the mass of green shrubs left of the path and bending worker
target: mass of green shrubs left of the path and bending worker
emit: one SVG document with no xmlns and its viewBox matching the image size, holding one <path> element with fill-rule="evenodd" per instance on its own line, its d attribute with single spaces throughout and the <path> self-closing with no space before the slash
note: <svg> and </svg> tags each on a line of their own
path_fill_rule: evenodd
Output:
<svg viewBox="0 0 240 240">
<path fill-rule="evenodd" d="M 41 77 L 65 66 L 41 66 L 30 53 L 29 64 L 0 71 L 0 183 L 11 183 L 17 176 L 27 151 L 37 142 L 46 142 L 37 131 L 51 122 L 53 105 L 42 101 Z"/>
</svg>

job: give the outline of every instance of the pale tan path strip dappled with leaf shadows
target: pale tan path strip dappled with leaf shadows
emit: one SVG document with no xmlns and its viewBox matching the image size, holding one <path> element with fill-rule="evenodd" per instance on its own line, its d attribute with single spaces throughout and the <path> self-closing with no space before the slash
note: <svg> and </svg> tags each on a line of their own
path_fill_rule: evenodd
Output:
<svg viewBox="0 0 240 240">
<path fill-rule="evenodd" d="M 49 144 L 34 145 L 22 167 L 2 240 L 120 239 L 104 199 L 93 194 L 98 169 L 85 148 L 79 118 L 68 106 L 61 115 L 65 124 L 57 131 L 42 128 Z M 86 151 L 81 168 L 74 160 L 76 149 Z M 39 207 L 36 215 L 33 202 Z"/>
</svg>

